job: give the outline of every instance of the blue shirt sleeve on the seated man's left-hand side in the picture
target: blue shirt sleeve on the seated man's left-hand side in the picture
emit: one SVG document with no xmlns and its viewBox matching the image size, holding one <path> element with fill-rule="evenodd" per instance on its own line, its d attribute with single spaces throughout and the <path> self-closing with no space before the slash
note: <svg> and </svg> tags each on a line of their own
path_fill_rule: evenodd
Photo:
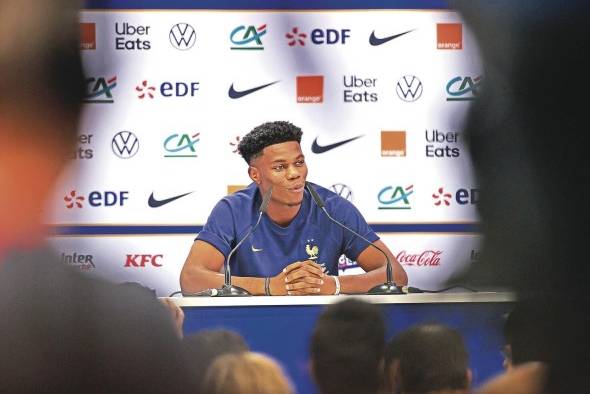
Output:
<svg viewBox="0 0 590 394">
<path fill-rule="evenodd" d="M 234 217 L 227 201 L 221 200 L 215 205 L 196 240 L 213 245 L 227 257 L 235 240 Z"/>
</svg>

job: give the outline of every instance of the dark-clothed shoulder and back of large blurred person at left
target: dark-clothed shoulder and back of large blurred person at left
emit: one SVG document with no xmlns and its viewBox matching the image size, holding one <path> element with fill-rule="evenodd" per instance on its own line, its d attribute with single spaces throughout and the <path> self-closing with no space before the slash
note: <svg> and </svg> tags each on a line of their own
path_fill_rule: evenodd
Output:
<svg viewBox="0 0 590 394">
<path fill-rule="evenodd" d="M 178 338 L 158 300 L 85 277 L 48 251 L 0 264 L 1 393 L 186 393 Z"/>
</svg>

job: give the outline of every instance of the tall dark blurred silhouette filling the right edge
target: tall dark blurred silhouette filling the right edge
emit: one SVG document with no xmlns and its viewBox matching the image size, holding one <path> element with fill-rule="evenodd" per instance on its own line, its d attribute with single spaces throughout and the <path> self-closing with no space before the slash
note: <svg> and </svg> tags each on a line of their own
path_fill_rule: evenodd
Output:
<svg viewBox="0 0 590 394">
<path fill-rule="evenodd" d="M 466 138 L 485 238 L 481 260 L 466 278 L 472 285 L 511 288 L 520 300 L 542 305 L 548 354 L 543 390 L 590 392 L 590 82 L 584 77 L 590 60 L 583 56 L 590 4 L 453 3 L 473 31 L 484 65 Z M 534 365 L 526 368 L 503 382 L 543 374 Z"/>
</svg>

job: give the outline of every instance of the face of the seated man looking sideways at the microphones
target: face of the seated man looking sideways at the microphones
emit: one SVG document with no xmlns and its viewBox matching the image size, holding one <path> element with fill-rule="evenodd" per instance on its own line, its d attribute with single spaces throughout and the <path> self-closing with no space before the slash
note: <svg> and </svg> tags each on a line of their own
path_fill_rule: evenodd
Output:
<svg viewBox="0 0 590 394">
<path fill-rule="evenodd" d="M 297 206 L 303 200 L 307 165 L 296 141 L 270 145 L 252 160 L 248 170 L 264 195 L 272 186 L 272 202 Z"/>
</svg>

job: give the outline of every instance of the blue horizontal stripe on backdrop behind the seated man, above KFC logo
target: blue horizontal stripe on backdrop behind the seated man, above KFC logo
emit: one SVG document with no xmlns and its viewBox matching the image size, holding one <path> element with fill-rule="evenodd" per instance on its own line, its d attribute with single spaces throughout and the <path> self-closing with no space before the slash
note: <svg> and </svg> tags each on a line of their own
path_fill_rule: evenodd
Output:
<svg viewBox="0 0 590 394">
<path fill-rule="evenodd" d="M 478 223 L 379 223 L 371 224 L 378 233 L 479 233 Z M 190 235 L 196 234 L 203 226 L 177 225 L 89 225 L 89 226 L 50 226 L 51 233 L 58 236 L 87 235 Z"/>
</svg>

